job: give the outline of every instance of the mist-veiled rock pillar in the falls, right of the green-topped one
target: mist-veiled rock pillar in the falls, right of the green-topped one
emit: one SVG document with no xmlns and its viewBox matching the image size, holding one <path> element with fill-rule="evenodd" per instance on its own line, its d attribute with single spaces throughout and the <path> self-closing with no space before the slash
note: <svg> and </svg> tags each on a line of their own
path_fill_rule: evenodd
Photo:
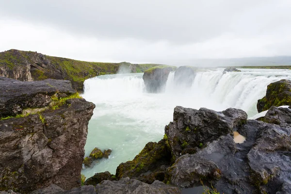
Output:
<svg viewBox="0 0 291 194">
<path fill-rule="evenodd" d="M 174 74 L 174 81 L 179 86 L 191 87 L 195 79 L 195 70 L 192 66 L 179 66 Z"/>
</svg>

